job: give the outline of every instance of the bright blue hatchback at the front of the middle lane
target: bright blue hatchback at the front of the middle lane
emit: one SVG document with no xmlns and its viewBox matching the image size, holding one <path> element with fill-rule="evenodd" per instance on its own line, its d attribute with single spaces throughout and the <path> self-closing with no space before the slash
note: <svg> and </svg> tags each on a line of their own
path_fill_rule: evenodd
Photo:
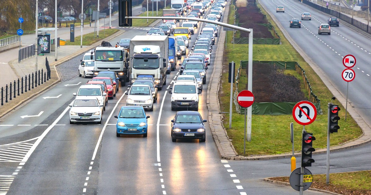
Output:
<svg viewBox="0 0 371 195">
<path fill-rule="evenodd" d="M 143 135 L 147 137 L 147 119 L 141 106 L 123 106 L 118 114 L 116 123 L 116 137 L 120 135 Z"/>
</svg>

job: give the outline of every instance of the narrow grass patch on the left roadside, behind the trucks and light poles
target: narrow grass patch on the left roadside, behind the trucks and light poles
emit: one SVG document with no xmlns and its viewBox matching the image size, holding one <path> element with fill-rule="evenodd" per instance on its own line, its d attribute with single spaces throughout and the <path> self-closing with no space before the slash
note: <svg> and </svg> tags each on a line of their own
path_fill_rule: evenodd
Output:
<svg viewBox="0 0 371 195">
<path fill-rule="evenodd" d="M 118 29 L 114 29 L 114 28 L 111 28 L 111 29 L 107 28 L 105 29 L 105 32 L 104 30 L 100 30 L 99 38 L 96 37 L 96 34 L 94 32 L 85 34 L 82 36 L 82 45 L 90 46 L 91 44 L 96 43 L 106 37 L 109 37 L 118 31 L 119 31 Z M 80 44 L 81 44 L 80 36 L 75 37 L 75 42 L 70 42 L 70 40 L 67 40 L 66 42 L 66 46 L 79 46 Z"/>
</svg>

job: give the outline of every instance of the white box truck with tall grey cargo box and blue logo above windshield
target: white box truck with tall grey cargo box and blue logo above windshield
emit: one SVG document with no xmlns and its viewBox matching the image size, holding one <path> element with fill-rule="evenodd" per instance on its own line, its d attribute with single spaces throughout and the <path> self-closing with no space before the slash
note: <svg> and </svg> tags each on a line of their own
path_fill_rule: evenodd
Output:
<svg viewBox="0 0 371 195">
<path fill-rule="evenodd" d="M 168 36 L 135 36 L 130 40 L 129 48 L 130 84 L 138 75 L 152 75 L 158 90 L 161 90 L 162 86 L 166 85 Z"/>
</svg>

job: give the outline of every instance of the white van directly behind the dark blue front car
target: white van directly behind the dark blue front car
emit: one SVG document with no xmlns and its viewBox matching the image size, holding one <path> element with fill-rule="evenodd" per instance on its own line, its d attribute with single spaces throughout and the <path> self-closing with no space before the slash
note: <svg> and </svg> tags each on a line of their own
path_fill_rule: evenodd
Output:
<svg viewBox="0 0 371 195">
<path fill-rule="evenodd" d="M 193 108 L 198 111 L 198 90 L 196 81 L 174 81 L 173 87 L 170 87 L 171 110 L 176 108 Z"/>
</svg>

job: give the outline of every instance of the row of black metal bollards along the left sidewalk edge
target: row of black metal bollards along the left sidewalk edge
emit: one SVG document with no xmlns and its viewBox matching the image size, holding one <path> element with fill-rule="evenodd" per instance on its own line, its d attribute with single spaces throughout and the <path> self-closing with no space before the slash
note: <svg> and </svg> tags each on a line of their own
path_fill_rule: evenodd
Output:
<svg viewBox="0 0 371 195">
<path fill-rule="evenodd" d="M 25 75 L 17 81 L 14 80 L 13 82 L 10 82 L 10 84 L 5 87 L 1 87 L 1 105 L 4 105 L 4 103 L 9 102 L 20 94 L 27 93 L 27 91 L 31 91 L 33 88 L 40 86 L 40 83 L 44 84 L 46 81 L 49 81 L 50 66 L 47 58 L 45 66 L 46 71 L 43 69 L 41 69 L 41 71 L 35 71 L 35 74 L 32 73 L 32 75 Z"/>
</svg>

